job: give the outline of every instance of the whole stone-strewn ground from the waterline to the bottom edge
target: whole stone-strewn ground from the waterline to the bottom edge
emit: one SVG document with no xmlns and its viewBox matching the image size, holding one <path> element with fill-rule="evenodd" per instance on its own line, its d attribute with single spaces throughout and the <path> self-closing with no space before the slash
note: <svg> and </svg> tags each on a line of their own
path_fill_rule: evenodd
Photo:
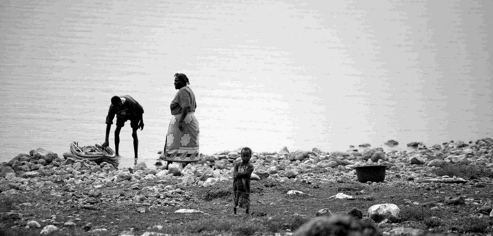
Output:
<svg viewBox="0 0 493 236">
<path fill-rule="evenodd" d="M 493 140 L 408 146 L 254 153 L 251 215 L 236 216 L 240 150 L 118 169 L 38 148 L 0 165 L 0 235 L 492 235 Z M 385 181 L 358 182 L 363 165 Z"/>
</svg>

